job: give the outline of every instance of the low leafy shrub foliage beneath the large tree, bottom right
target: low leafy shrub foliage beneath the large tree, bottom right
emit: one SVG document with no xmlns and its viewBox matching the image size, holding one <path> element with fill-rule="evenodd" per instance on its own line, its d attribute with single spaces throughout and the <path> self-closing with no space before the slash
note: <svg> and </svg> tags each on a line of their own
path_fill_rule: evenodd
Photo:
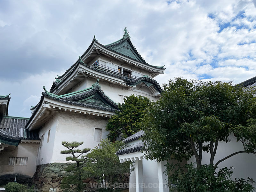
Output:
<svg viewBox="0 0 256 192">
<path fill-rule="evenodd" d="M 185 167 L 168 165 L 167 172 L 169 181 L 172 183 L 170 192 L 249 192 L 253 191 L 252 179 L 232 180 L 233 167 L 221 168 L 215 172 L 211 165 L 202 165 L 197 169 L 193 164 L 186 164 Z M 186 170 L 186 171 L 184 171 Z"/>
</svg>

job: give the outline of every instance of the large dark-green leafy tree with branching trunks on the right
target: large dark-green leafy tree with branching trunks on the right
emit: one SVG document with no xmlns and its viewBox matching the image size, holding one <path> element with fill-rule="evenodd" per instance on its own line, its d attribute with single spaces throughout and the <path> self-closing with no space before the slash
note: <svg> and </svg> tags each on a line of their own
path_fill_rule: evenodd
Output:
<svg viewBox="0 0 256 192">
<path fill-rule="evenodd" d="M 200 169 L 203 154 L 210 153 L 209 165 L 215 172 L 221 162 L 236 154 L 256 153 L 255 90 L 182 78 L 163 86 L 162 97 L 152 103 L 143 124 L 148 158 L 182 161 L 195 156 Z M 244 150 L 213 164 L 218 144 L 230 142 L 231 134 Z"/>
</svg>

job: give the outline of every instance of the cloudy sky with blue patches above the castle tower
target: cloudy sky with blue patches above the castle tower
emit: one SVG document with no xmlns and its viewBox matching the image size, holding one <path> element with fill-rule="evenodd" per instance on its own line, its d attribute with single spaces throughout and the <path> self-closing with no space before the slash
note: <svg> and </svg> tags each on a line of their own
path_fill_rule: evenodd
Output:
<svg viewBox="0 0 256 192">
<path fill-rule="evenodd" d="M 0 95 L 10 116 L 30 117 L 54 77 L 92 42 L 131 41 L 159 84 L 186 79 L 241 83 L 256 76 L 256 0 L 0 1 Z"/>
</svg>

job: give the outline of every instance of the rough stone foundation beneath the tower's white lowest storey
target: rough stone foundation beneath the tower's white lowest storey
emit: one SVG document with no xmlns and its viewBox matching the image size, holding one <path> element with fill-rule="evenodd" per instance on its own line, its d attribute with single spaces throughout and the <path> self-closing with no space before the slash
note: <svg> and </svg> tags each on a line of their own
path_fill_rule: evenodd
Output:
<svg viewBox="0 0 256 192">
<path fill-rule="evenodd" d="M 38 189 L 38 192 L 62 192 L 60 184 L 63 176 L 65 176 L 65 169 L 69 164 L 71 163 L 51 163 L 36 166 L 36 172 L 32 178 L 32 185 Z M 125 186 L 128 186 L 129 173 L 123 176 L 116 175 L 115 179 L 119 180 L 120 183 L 125 183 Z M 88 188 L 86 188 L 85 191 L 96 191 L 95 189 L 90 189 L 91 186 L 95 186 L 95 179 L 89 178 L 84 180 L 84 182 L 88 183 L 88 185 L 86 185 Z"/>
</svg>

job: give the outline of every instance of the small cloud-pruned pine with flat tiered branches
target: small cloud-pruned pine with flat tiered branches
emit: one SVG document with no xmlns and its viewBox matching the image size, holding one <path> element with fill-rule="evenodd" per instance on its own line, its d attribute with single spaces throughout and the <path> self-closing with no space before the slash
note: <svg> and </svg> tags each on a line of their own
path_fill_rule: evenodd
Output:
<svg viewBox="0 0 256 192">
<path fill-rule="evenodd" d="M 86 163 L 87 157 L 84 156 L 84 153 L 89 152 L 90 148 L 77 149 L 84 142 L 67 142 L 62 141 L 62 145 L 68 150 L 60 151 L 61 154 L 71 154 L 72 156 L 66 157 L 66 161 L 75 161 L 75 164 L 68 165 L 68 168 L 65 170 L 68 172 L 68 175 L 63 178 L 61 188 L 64 191 L 77 191 L 81 192 L 84 189 L 84 183 L 81 179 L 82 167 Z M 76 155 L 79 154 L 79 155 Z M 72 187 L 70 187 L 72 186 Z"/>
</svg>

